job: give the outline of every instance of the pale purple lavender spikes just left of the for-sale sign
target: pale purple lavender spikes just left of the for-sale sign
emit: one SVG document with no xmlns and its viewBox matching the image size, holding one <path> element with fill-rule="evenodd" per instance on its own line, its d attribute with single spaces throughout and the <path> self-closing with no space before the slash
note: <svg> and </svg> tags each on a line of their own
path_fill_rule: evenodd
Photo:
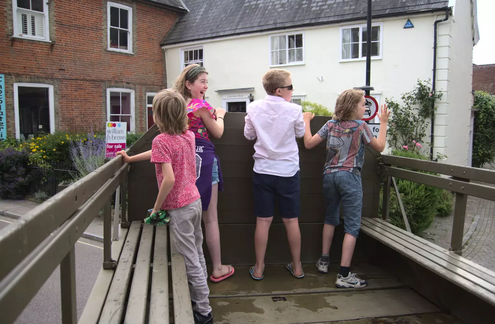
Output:
<svg viewBox="0 0 495 324">
<path fill-rule="evenodd" d="M 79 172 L 79 178 L 85 177 L 103 165 L 105 159 L 105 139 L 98 138 L 93 129 L 87 138 L 81 138 L 69 144 L 70 157 Z"/>
</svg>

